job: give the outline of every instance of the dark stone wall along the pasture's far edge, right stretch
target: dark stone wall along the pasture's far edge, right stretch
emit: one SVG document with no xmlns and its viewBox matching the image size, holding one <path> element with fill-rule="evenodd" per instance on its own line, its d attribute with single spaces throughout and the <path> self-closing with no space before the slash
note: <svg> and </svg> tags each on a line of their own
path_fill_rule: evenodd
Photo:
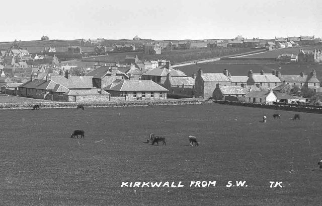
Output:
<svg viewBox="0 0 322 206">
<path fill-rule="evenodd" d="M 307 113 L 322 113 L 322 108 L 312 106 L 312 105 L 307 105 L 307 106 L 302 105 L 301 107 L 298 107 L 296 105 L 258 104 L 258 103 L 223 101 L 223 100 L 214 100 L 213 102 L 217 104 L 258 107 L 258 108 L 265 108 L 265 109 L 288 110 L 288 111 L 307 112 Z"/>
</svg>

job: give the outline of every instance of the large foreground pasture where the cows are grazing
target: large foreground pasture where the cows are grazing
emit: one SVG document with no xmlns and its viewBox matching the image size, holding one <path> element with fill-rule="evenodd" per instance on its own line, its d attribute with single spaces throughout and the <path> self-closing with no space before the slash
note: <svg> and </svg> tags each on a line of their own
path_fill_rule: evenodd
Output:
<svg viewBox="0 0 322 206">
<path fill-rule="evenodd" d="M 220 104 L 3 110 L 3 205 L 319 205 L 320 115 Z M 250 115 L 251 114 L 251 115 Z M 262 116 L 267 123 L 261 123 Z M 85 139 L 70 139 L 84 129 Z M 155 132 L 166 146 L 144 143 Z M 189 147 L 196 135 L 199 147 Z M 189 187 L 190 181 L 216 187 Z M 121 187 L 122 182 L 184 187 Z M 247 187 L 226 187 L 247 181 Z M 283 188 L 270 188 L 270 181 Z"/>
</svg>

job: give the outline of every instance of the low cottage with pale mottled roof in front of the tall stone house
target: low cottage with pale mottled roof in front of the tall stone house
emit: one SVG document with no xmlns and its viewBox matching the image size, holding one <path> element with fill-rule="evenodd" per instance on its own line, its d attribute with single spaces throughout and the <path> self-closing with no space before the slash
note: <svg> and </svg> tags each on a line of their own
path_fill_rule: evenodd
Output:
<svg viewBox="0 0 322 206">
<path fill-rule="evenodd" d="M 246 90 L 240 86 L 216 85 L 212 98 L 215 100 L 237 101 L 238 97 L 244 97 Z"/>
</svg>

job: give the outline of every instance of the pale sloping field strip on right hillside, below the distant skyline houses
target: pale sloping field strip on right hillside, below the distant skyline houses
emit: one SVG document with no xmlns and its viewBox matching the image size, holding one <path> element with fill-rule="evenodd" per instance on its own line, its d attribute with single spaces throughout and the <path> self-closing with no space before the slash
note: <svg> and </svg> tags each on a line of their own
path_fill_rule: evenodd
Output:
<svg viewBox="0 0 322 206">
<path fill-rule="evenodd" d="M 303 50 L 314 50 L 314 49 L 321 49 L 322 45 L 315 45 L 315 46 L 300 46 L 300 47 L 292 47 L 292 48 L 284 48 L 284 49 L 276 49 L 273 51 L 267 51 L 265 53 L 254 54 L 249 56 L 243 56 L 240 58 L 277 58 L 278 55 L 283 53 L 293 53 L 298 54 L 300 49 Z"/>
</svg>

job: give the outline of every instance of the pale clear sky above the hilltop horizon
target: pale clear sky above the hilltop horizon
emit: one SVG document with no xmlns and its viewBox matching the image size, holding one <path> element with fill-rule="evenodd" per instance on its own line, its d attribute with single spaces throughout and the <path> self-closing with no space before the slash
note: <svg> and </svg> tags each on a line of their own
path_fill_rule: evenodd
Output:
<svg viewBox="0 0 322 206">
<path fill-rule="evenodd" d="M 50 39 L 322 38 L 320 0 L 15 0 L 1 4 L 0 42 Z"/>
</svg>

